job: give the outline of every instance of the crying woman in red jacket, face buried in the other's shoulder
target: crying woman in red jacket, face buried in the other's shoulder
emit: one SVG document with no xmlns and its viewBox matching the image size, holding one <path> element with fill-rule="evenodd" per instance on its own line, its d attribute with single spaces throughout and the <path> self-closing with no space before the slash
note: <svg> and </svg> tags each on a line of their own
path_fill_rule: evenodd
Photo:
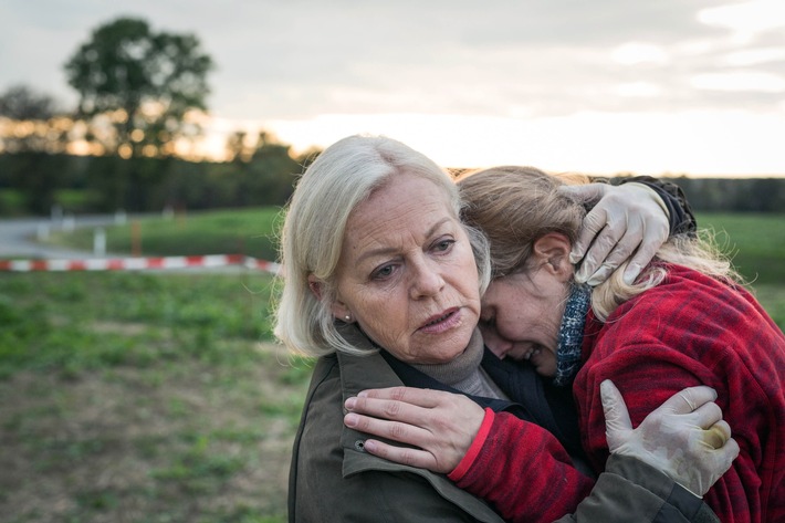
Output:
<svg viewBox="0 0 785 523">
<path fill-rule="evenodd" d="M 564 197 L 557 178 L 506 167 L 468 176 L 460 186 L 469 201 L 465 220 L 491 243 L 484 341 L 500 357 L 526 360 L 556 384 L 572 385 L 583 446 L 595 468 L 608 458 L 597 395 L 605 379 L 625 393 L 634 422 L 676 390 L 709 385 L 718 390 L 741 454 L 708 492 L 706 503 L 723 522 L 785 521 L 785 336 L 730 264 L 697 238 L 676 238 L 632 284 L 617 274 L 592 290 L 575 284 L 568 261 L 584 210 Z M 409 390 L 407 405 L 426 396 Z M 390 405 L 401 410 L 398 404 L 386 408 Z M 362 411 L 374 409 L 364 405 Z M 477 463 L 510 456 L 516 443 L 505 430 L 473 442 L 482 456 Z M 443 432 L 433 438 L 456 440 Z M 425 447 L 417 438 L 405 440 Z M 368 448 L 396 457 L 375 442 Z M 504 499 L 505 482 L 525 466 L 463 467 L 473 483 L 463 480 L 462 487 L 495 500 Z"/>
</svg>

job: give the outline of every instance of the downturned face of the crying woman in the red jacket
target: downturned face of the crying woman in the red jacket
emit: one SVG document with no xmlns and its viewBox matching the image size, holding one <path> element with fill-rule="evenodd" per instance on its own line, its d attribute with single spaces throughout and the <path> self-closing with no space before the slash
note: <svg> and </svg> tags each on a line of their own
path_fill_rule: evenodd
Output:
<svg viewBox="0 0 785 523">
<path fill-rule="evenodd" d="M 485 345 L 500 358 L 527 359 L 537 373 L 555 376 L 566 297 L 563 278 L 545 266 L 493 280 L 482 297 Z"/>
</svg>

